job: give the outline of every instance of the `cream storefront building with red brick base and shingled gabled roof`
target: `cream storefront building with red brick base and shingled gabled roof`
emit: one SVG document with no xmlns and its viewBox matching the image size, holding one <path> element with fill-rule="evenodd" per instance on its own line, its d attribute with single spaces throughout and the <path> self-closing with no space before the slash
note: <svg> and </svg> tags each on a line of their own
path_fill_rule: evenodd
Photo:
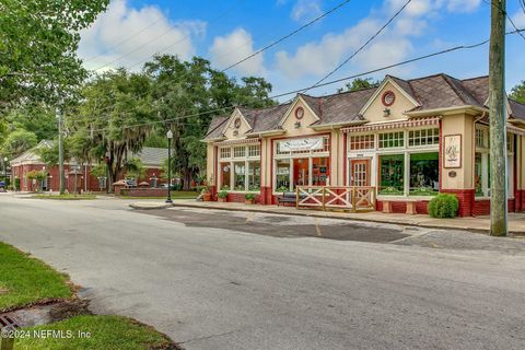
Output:
<svg viewBox="0 0 525 350">
<path fill-rule="evenodd" d="M 253 192 L 275 205 L 296 188 L 374 191 L 373 207 L 425 213 L 432 196 L 455 194 L 459 215 L 490 210 L 488 78 L 387 75 L 378 88 L 215 117 L 205 138 L 213 191 Z M 508 104 L 509 210 L 525 208 L 525 105 Z M 311 199 L 314 201 L 315 196 Z M 332 201 L 335 202 L 335 201 Z M 350 203 L 349 203 L 350 205 Z M 353 203 L 355 205 L 355 203 Z"/>
</svg>

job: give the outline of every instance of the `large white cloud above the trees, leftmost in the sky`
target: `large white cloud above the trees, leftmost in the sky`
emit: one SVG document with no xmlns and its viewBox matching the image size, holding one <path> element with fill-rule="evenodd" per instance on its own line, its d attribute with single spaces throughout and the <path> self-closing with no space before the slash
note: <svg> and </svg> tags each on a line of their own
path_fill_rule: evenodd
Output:
<svg viewBox="0 0 525 350">
<path fill-rule="evenodd" d="M 105 13 L 81 32 L 79 56 L 89 69 L 104 66 L 100 70 L 122 66 L 139 70 L 143 65 L 141 61 L 154 54 L 188 59 L 196 51 L 192 38 L 203 36 L 206 27 L 202 21 L 173 23 L 153 5 L 133 9 L 127 0 L 115 0 Z"/>
</svg>

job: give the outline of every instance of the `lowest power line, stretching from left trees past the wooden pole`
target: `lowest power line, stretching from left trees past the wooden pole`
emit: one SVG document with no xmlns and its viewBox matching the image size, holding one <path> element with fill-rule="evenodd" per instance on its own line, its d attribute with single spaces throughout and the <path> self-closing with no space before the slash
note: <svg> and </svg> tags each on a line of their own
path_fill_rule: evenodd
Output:
<svg viewBox="0 0 525 350">
<path fill-rule="evenodd" d="M 525 30 L 512 31 L 512 32 L 508 32 L 506 35 L 518 34 L 518 33 L 522 33 L 522 32 L 524 32 L 524 31 L 525 31 Z M 440 51 L 435 51 L 435 52 L 432 52 L 432 54 L 428 54 L 428 55 L 415 57 L 415 58 L 407 59 L 407 60 L 404 60 L 404 61 L 400 61 L 400 62 L 397 62 L 397 63 L 384 66 L 384 67 L 376 68 L 376 69 L 373 69 L 373 70 L 369 70 L 369 71 L 365 71 L 365 72 L 361 72 L 361 73 L 358 73 L 358 74 L 353 74 L 353 75 L 350 75 L 350 77 L 345 77 L 345 78 L 341 78 L 341 79 L 337 79 L 337 80 L 332 80 L 332 81 L 329 81 L 329 82 L 325 82 L 325 83 L 318 84 L 318 85 L 315 86 L 315 88 L 323 88 L 323 86 L 331 85 L 331 84 L 335 84 L 335 83 L 343 82 L 343 81 L 347 81 L 347 80 L 351 80 L 351 79 L 355 79 L 355 78 L 361 78 L 361 77 L 370 75 L 370 74 L 372 74 L 372 73 L 376 73 L 376 72 L 380 72 L 380 71 L 383 71 L 383 70 L 386 70 L 386 69 L 390 69 L 390 68 L 395 68 L 395 67 L 399 67 L 399 66 L 405 66 L 405 65 L 408 65 L 408 63 L 412 63 L 412 62 L 420 61 L 420 60 L 423 60 L 423 59 L 428 59 L 428 58 L 431 58 L 431 57 L 436 57 L 436 56 L 450 54 L 450 52 L 457 51 L 457 50 L 477 48 L 477 47 L 480 47 L 480 46 L 483 46 L 483 45 L 488 44 L 489 42 L 490 42 L 490 39 L 486 39 L 486 40 L 483 40 L 483 42 L 480 42 L 480 43 L 477 43 L 477 44 L 472 44 L 472 45 L 459 45 L 459 46 L 451 47 L 451 48 L 447 48 L 447 49 L 444 49 L 444 50 L 440 50 Z M 282 97 L 282 96 L 288 96 L 288 95 L 291 95 L 291 94 L 300 93 L 300 92 L 302 92 L 303 90 L 304 90 L 304 88 L 303 88 L 303 89 L 293 90 L 293 91 L 289 91 L 289 92 L 284 92 L 284 93 L 280 93 L 280 94 L 277 94 L 277 95 L 272 95 L 272 96 L 266 97 L 265 100 L 270 100 L 270 101 L 271 101 L 271 100 L 275 100 L 275 98 L 278 98 L 278 97 Z M 219 113 L 219 112 L 225 113 L 228 109 L 232 109 L 232 108 L 235 108 L 235 107 L 237 107 L 237 106 L 238 106 L 238 105 L 230 105 L 230 106 L 225 106 L 225 107 L 221 107 L 221 108 L 215 108 L 215 109 L 211 109 L 211 110 L 207 110 L 207 112 L 201 112 L 201 113 L 183 115 L 183 116 L 179 116 L 179 117 L 170 118 L 170 119 L 164 119 L 164 120 L 154 120 L 154 121 L 149 121 L 149 122 L 142 122 L 142 124 L 136 124 L 136 125 L 128 125 L 128 126 L 119 126 L 119 127 L 122 128 L 122 129 L 126 129 L 126 128 L 136 128 L 136 127 L 141 127 L 141 126 L 147 126 L 147 125 L 164 124 L 164 122 L 180 120 L 180 119 L 190 118 L 190 117 L 197 117 L 197 116 L 203 116 L 203 115 L 209 115 L 209 114 L 215 114 L 215 113 Z M 245 107 L 248 107 L 248 108 L 249 108 L 249 106 L 245 106 Z M 90 130 L 90 131 L 92 131 L 92 132 L 98 132 L 98 131 L 105 131 L 105 130 L 107 130 L 107 128 L 92 129 L 92 130 Z"/>
</svg>

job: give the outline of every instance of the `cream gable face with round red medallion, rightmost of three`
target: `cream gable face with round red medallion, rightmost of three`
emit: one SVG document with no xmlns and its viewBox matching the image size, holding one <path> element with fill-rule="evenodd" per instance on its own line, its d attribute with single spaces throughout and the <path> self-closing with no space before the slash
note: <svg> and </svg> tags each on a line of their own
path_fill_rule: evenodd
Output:
<svg viewBox="0 0 525 350">
<path fill-rule="evenodd" d="M 383 105 L 382 96 L 386 91 L 392 91 L 396 95 L 394 104 L 388 107 L 390 109 L 390 115 L 388 117 L 383 116 L 383 110 L 386 107 Z M 404 116 L 402 113 L 412 109 L 413 107 L 416 107 L 416 105 L 410 102 L 410 100 L 408 100 L 396 86 L 388 82 L 380 91 L 377 97 L 364 110 L 363 117 L 371 122 L 407 119 L 408 117 Z"/>
</svg>

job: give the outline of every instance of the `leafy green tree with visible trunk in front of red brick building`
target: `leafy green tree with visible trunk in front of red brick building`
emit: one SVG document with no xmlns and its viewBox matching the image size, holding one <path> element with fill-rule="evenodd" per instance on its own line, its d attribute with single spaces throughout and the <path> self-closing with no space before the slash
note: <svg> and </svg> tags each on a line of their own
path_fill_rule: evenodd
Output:
<svg viewBox="0 0 525 350">
<path fill-rule="evenodd" d="M 85 85 L 78 116 L 67 118 L 75 138 L 73 155 L 106 164 L 109 191 L 124 176 L 128 153 L 139 152 L 153 128 L 151 85 L 144 74 L 124 69 L 106 72 Z"/>
</svg>

